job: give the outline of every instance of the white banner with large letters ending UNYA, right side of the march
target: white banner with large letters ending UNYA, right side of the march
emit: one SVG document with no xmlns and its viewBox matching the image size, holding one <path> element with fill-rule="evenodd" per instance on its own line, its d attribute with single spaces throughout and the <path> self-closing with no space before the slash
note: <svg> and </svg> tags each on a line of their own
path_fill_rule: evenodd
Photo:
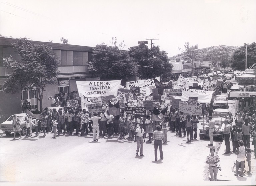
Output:
<svg viewBox="0 0 256 186">
<path fill-rule="evenodd" d="M 198 103 L 210 103 L 212 99 L 213 91 L 186 89 L 186 88 L 183 88 L 181 90 L 182 90 L 182 96 L 175 96 L 175 99 L 188 101 L 189 97 L 197 97 Z"/>
</svg>

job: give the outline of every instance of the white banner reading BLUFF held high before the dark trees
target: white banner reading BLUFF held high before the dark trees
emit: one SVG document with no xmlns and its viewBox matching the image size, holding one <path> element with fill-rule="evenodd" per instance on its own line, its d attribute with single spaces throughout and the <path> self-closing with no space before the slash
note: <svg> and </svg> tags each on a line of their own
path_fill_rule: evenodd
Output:
<svg viewBox="0 0 256 186">
<path fill-rule="evenodd" d="M 160 77 L 156 77 L 158 81 L 160 81 Z M 152 79 L 146 79 L 146 80 L 138 80 L 138 81 L 127 81 L 126 82 L 126 88 L 129 90 L 131 87 L 140 87 L 141 89 L 146 90 L 145 96 L 148 96 L 152 92 L 150 92 L 150 87 L 155 86 L 154 78 Z"/>
</svg>

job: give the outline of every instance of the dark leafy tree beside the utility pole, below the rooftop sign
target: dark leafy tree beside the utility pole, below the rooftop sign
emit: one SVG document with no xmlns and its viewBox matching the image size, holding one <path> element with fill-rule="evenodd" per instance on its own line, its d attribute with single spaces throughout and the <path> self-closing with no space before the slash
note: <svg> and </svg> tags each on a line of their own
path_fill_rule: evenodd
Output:
<svg viewBox="0 0 256 186">
<path fill-rule="evenodd" d="M 161 75 L 167 77 L 172 75 L 172 64 L 169 63 L 168 55 L 165 51 L 160 51 L 159 46 L 149 49 L 147 45 L 140 44 L 129 48 L 129 53 L 138 65 L 153 67 L 138 66 L 138 77 L 150 79 Z"/>
</svg>

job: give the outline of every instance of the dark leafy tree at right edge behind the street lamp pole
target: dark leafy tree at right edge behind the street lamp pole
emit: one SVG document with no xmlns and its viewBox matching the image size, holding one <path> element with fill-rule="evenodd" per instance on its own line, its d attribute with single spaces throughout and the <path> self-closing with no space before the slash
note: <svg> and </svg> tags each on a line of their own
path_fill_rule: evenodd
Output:
<svg viewBox="0 0 256 186">
<path fill-rule="evenodd" d="M 240 46 L 232 56 L 231 67 L 234 70 L 245 70 L 245 45 Z M 244 48 L 244 49 L 243 49 Z M 247 68 L 255 63 L 255 42 L 247 44 Z"/>
</svg>

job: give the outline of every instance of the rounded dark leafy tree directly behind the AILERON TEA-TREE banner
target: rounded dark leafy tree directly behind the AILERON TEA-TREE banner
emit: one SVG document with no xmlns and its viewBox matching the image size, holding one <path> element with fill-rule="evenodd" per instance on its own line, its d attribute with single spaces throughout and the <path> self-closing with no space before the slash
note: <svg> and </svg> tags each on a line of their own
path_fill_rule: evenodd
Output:
<svg viewBox="0 0 256 186">
<path fill-rule="evenodd" d="M 117 46 L 107 46 L 102 43 L 93 49 L 93 59 L 89 62 L 89 72 L 99 74 L 101 79 L 129 80 L 137 74 L 136 63 L 127 51 L 119 50 Z"/>
</svg>

